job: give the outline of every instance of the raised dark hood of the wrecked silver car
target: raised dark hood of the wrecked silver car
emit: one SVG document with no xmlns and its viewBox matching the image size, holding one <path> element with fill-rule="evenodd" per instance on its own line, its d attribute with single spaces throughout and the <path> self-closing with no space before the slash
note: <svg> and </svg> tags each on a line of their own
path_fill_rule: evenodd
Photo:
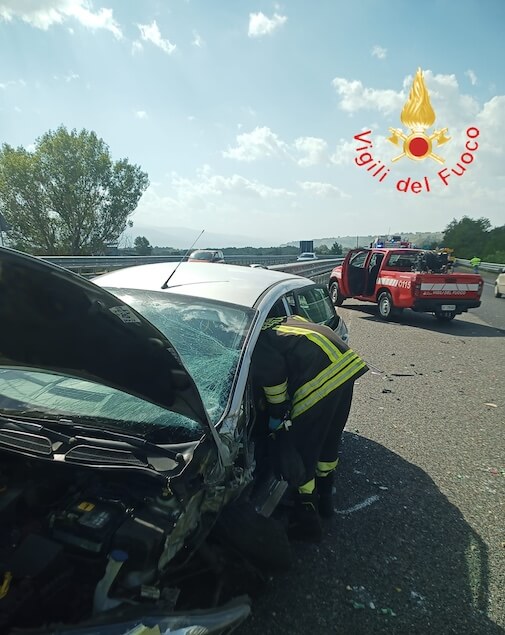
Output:
<svg viewBox="0 0 505 635">
<path fill-rule="evenodd" d="M 0 247 L 2 366 L 89 379 L 210 426 L 178 353 L 148 320 L 81 276 Z"/>
</svg>

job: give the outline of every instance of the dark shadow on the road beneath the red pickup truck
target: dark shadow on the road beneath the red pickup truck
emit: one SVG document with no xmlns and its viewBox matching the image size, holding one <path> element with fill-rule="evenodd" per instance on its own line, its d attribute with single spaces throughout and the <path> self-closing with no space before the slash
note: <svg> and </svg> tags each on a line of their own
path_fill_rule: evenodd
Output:
<svg viewBox="0 0 505 635">
<path fill-rule="evenodd" d="M 451 322 L 439 322 L 431 313 L 416 313 L 415 311 L 405 309 L 399 316 L 393 317 L 388 322 L 385 322 L 377 315 L 377 307 L 374 304 L 348 304 L 346 302 L 342 307 L 337 309 L 340 314 L 341 309 L 362 313 L 362 318 L 365 320 L 373 320 L 381 322 L 382 324 L 400 324 L 405 327 L 444 333 L 456 337 L 505 337 L 505 329 L 462 320 L 459 319 L 460 316 L 456 316 Z"/>
</svg>

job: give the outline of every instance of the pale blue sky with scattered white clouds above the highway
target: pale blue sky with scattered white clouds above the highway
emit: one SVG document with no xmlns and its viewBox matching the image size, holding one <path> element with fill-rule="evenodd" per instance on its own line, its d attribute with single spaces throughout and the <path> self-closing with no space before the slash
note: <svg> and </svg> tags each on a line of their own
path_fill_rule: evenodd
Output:
<svg viewBox="0 0 505 635">
<path fill-rule="evenodd" d="M 501 225 L 504 32 L 501 0 L 0 0 L 0 142 L 95 130 L 148 172 L 133 235 L 153 244 L 175 227 L 279 244 Z M 418 67 L 443 165 L 392 163 Z M 444 185 L 469 127 L 479 147 Z M 354 162 L 363 130 L 383 182 Z M 396 189 L 424 177 L 430 192 Z"/>
</svg>

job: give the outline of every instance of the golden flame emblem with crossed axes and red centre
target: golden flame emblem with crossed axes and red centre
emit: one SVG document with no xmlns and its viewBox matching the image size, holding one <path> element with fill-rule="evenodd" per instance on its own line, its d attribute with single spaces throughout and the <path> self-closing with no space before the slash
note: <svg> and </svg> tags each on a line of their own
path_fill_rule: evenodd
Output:
<svg viewBox="0 0 505 635">
<path fill-rule="evenodd" d="M 388 141 L 395 145 L 399 145 L 400 140 L 403 141 L 403 152 L 393 161 L 398 161 L 403 157 L 408 157 L 413 161 L 422 161 L 430 157 L 438 163 L 444 163 L 445 159 L 433 152 L 433 143 L 435 142 L 437 146 L 447 143 L 450 140 L 450 137 L 446 136 L 448 129 L 442 128 L 435 130 L 430 135 L 426 134 L 426 130 L 435 123 L 436 117 L 420 68 L 417 69 L 409 98 L 403 106 L 400 119 L 403 125 L 410 129 L 410 134 L 405 134 L 403 130 L 398 128 L 389 129 L 391 136 L 388 137 Z"/>
</svg>

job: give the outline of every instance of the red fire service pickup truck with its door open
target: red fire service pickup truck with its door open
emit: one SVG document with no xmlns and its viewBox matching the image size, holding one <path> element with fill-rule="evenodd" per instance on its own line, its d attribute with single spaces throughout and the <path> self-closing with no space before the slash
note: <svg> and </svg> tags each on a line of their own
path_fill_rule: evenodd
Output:
<svg viewBox="0 0 505 635">
<path fill-rule="evenodd" d="M 403 309 L 434 313 L 442 321 L 480 306 L 484 281 L 470 273 L 448 273 L 448 255 L 421 249 L 353 249 L 333 269 L 333 303 L 347 298 L 378 305 L 387 320 Z"/>
</svg>

